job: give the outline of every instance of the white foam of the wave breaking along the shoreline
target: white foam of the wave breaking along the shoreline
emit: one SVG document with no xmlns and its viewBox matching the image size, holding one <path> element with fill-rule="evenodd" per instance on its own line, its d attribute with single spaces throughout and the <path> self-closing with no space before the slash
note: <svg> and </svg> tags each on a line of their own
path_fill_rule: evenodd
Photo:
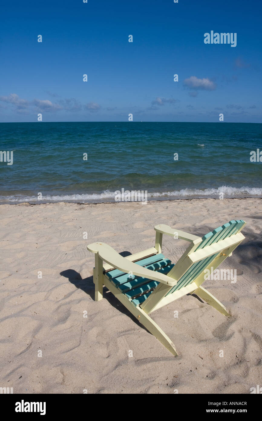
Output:
<svg viewBox="0 0 262 421">
<path fill-rule="evenodd" d="M 144 187 L 146 189 L 146 187 Z M 224 197 L 245 197 L 245 196 L 262 196 L 262 187 L 230 187 L 221 186 L 217 189 L 181 189 L 167 192 L 148 192 L 148 198 L 190 198 L 190 197 L 219 197 L 220 193 L 224 193 Z M 42 200 L 37 200 L 37 196 L 0 196 L 0 202 L 88 202 L 88 201 L 114 201 L 115 192 L 105 190 L 103 193 L 92 193 L 82 195 L 46 195 L 42 196 Z"/>
</svg>

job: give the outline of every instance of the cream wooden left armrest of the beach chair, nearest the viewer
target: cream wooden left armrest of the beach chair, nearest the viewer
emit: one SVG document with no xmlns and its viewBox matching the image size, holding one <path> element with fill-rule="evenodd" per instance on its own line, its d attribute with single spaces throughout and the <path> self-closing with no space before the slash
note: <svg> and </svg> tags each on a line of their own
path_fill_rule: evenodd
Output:
<svg viewBox="0 0 262 421">
<path fill-rule="evenodd" d="M 139 266 L 134 262 L 128 261 L 126 258 L 120 256 L 114 248 L 104 242 L 94 242 L 93 244 L 89 244 L 87 246 L 87 250 L 92 253 L 98 253 L 98 256 L 103 261 L 114 266 L 116 269 L 121 270 L 121 272 L 132 272 L 134 275 L 149 278 L 153 281 L 158 281 L 170 286 L 177 284 L 177 280 L 174 280 L 167 275 L 146 269 L 146 267 Z"/>
</svg>

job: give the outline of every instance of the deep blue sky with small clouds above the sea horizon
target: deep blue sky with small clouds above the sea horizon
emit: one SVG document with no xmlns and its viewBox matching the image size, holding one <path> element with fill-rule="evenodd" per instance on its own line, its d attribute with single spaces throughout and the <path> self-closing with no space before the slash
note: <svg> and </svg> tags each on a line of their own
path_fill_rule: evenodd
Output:
<svg viewBox="0 0 262 421">
<path fill-rule="evenodd" d="M 262 123 L 261 11 L 252 0 L 5 2 L 0 122 Z M 236 32 L 236 47 L 205 44 L 212 30 Z"/>
</svg>

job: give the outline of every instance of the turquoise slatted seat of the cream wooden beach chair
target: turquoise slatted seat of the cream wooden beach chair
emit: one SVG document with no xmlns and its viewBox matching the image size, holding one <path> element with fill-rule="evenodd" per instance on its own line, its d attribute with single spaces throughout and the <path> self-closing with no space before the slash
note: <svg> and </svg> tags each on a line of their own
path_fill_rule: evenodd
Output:
<svg viewBox="0 0 262 421">
<path fill-rule="evenodd" d="M 169 259 L 160 253 L 135 263 L 163 274 L 168 274 L 174 266 Z M 132 273 L 124 273 L 118 269 L 106 272 L 105 275 L 136 307 L 140 306 L 159 284 L 157 281 L 138 277 Z"/>
</svg>

